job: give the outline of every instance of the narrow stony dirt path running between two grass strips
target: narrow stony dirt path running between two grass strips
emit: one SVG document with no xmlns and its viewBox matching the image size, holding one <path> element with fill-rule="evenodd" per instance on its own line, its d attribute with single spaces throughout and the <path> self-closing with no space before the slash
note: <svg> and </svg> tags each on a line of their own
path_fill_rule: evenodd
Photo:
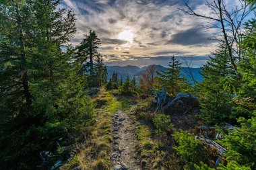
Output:
<svg viewBox="0 0 256 170">
<path fill-rule="evenodd" d="M 138 141 L 135 137 L 135 125 L 125 112 L 119 110 L 113 117 L 113 154 L 112 169 L 140 170 L 137 156 Z"/>
</svg>

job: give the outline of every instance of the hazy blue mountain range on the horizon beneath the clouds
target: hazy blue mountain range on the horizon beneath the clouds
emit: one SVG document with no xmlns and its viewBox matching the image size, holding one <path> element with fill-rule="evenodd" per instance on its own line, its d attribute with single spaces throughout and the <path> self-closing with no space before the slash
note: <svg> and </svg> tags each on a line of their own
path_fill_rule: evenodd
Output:
<svg viewBox="0 0 256 170">
<path fill-rule="evenodd" d="M 147 72 L 148 68 L 150 66 L 146 66 L 146 67 L 142 67 L 142 68 L 139 68 L 137 66 L 131 66 L 131 65 L 127 65 L 125 67 L 107 66 L 108 77 L 111 77 L 111 75 L 113 75 L 114 72 L 117 72 L 117 75 L 119 76 L 119 78 L 123 77 L 123 79 L 125 79 L 128 75 L 130 77 L 133 77 L 133 76 L 139 77 L 143 73 Z M 166 69 L 166 67 L 163 67 L 161 65 L 154 65 L 154 66 L 156 67 L 156 71 L 164 71 Z M 203 77 L 199 73 L 201 71 L 201 68 L 190 68 L 190 71 L 191 71 L 191 73 L 192 73 L 192 75 L 193 75 L 193 77 L 196 81 L 198 81 L 198 82 L 203 81 Z M 189 79 L 189 81 L 192 82 L 188 73 L 189 73 L 189 68 L 188 67 L 183 67 L 181 69 L 181 77 L 186 77 L 187 79 Z"/>
</svg>

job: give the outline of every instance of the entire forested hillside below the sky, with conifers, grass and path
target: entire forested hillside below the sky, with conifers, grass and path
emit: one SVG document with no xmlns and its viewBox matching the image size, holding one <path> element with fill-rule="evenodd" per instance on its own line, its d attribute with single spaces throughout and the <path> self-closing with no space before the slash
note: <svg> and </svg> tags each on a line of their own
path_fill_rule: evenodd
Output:
<svg viewBox="0 0 256 170">
<path fill-rule="evenodd" d="M 256 1 L 239 2 L 179 9 L 219 29 L 198 76 L 174 55 L 118 72 L 95 31 L 71 42 L 60 0 L 1 0 L 0 169 L 256 169 Z"/>
</svg>

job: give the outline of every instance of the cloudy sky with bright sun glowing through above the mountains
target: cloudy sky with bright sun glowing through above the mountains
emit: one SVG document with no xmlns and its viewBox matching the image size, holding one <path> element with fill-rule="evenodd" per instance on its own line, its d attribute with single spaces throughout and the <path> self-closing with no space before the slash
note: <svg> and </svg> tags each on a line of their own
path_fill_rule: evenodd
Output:
<svg viewBox="0 0 256 170">
<path fill-rule="evenodd" d="M 217 30 L 205 30 L 205 19 L 179 10 L 185 3 L 211 14 L 203 0 L 63 0 L 63 6 L 77 14 L 72 43 L 79 44 L 84 34 L 95 30 L 106 65 L 167 66 L 174 55 L 194 56 L 193 67 L 199 67 L 215 49 L 216 42 L 209 38 Z"/>
</svg>

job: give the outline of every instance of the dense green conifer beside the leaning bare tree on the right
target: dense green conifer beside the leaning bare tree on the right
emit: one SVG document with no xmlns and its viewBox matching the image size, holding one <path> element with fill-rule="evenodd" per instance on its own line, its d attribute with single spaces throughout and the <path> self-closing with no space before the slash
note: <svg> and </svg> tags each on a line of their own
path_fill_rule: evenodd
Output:
<svg viewBox="0 0 256 170">
<path fill-rule="evenodd" d="M 201 118 L 208 124 L 232 122 L 232 95 L 224 91 L 224 78 L 234 75 L 229 56 L 224 46 L 213 53 L 207 64 L 203 66 L 201 75 Z"/>
</svg>

